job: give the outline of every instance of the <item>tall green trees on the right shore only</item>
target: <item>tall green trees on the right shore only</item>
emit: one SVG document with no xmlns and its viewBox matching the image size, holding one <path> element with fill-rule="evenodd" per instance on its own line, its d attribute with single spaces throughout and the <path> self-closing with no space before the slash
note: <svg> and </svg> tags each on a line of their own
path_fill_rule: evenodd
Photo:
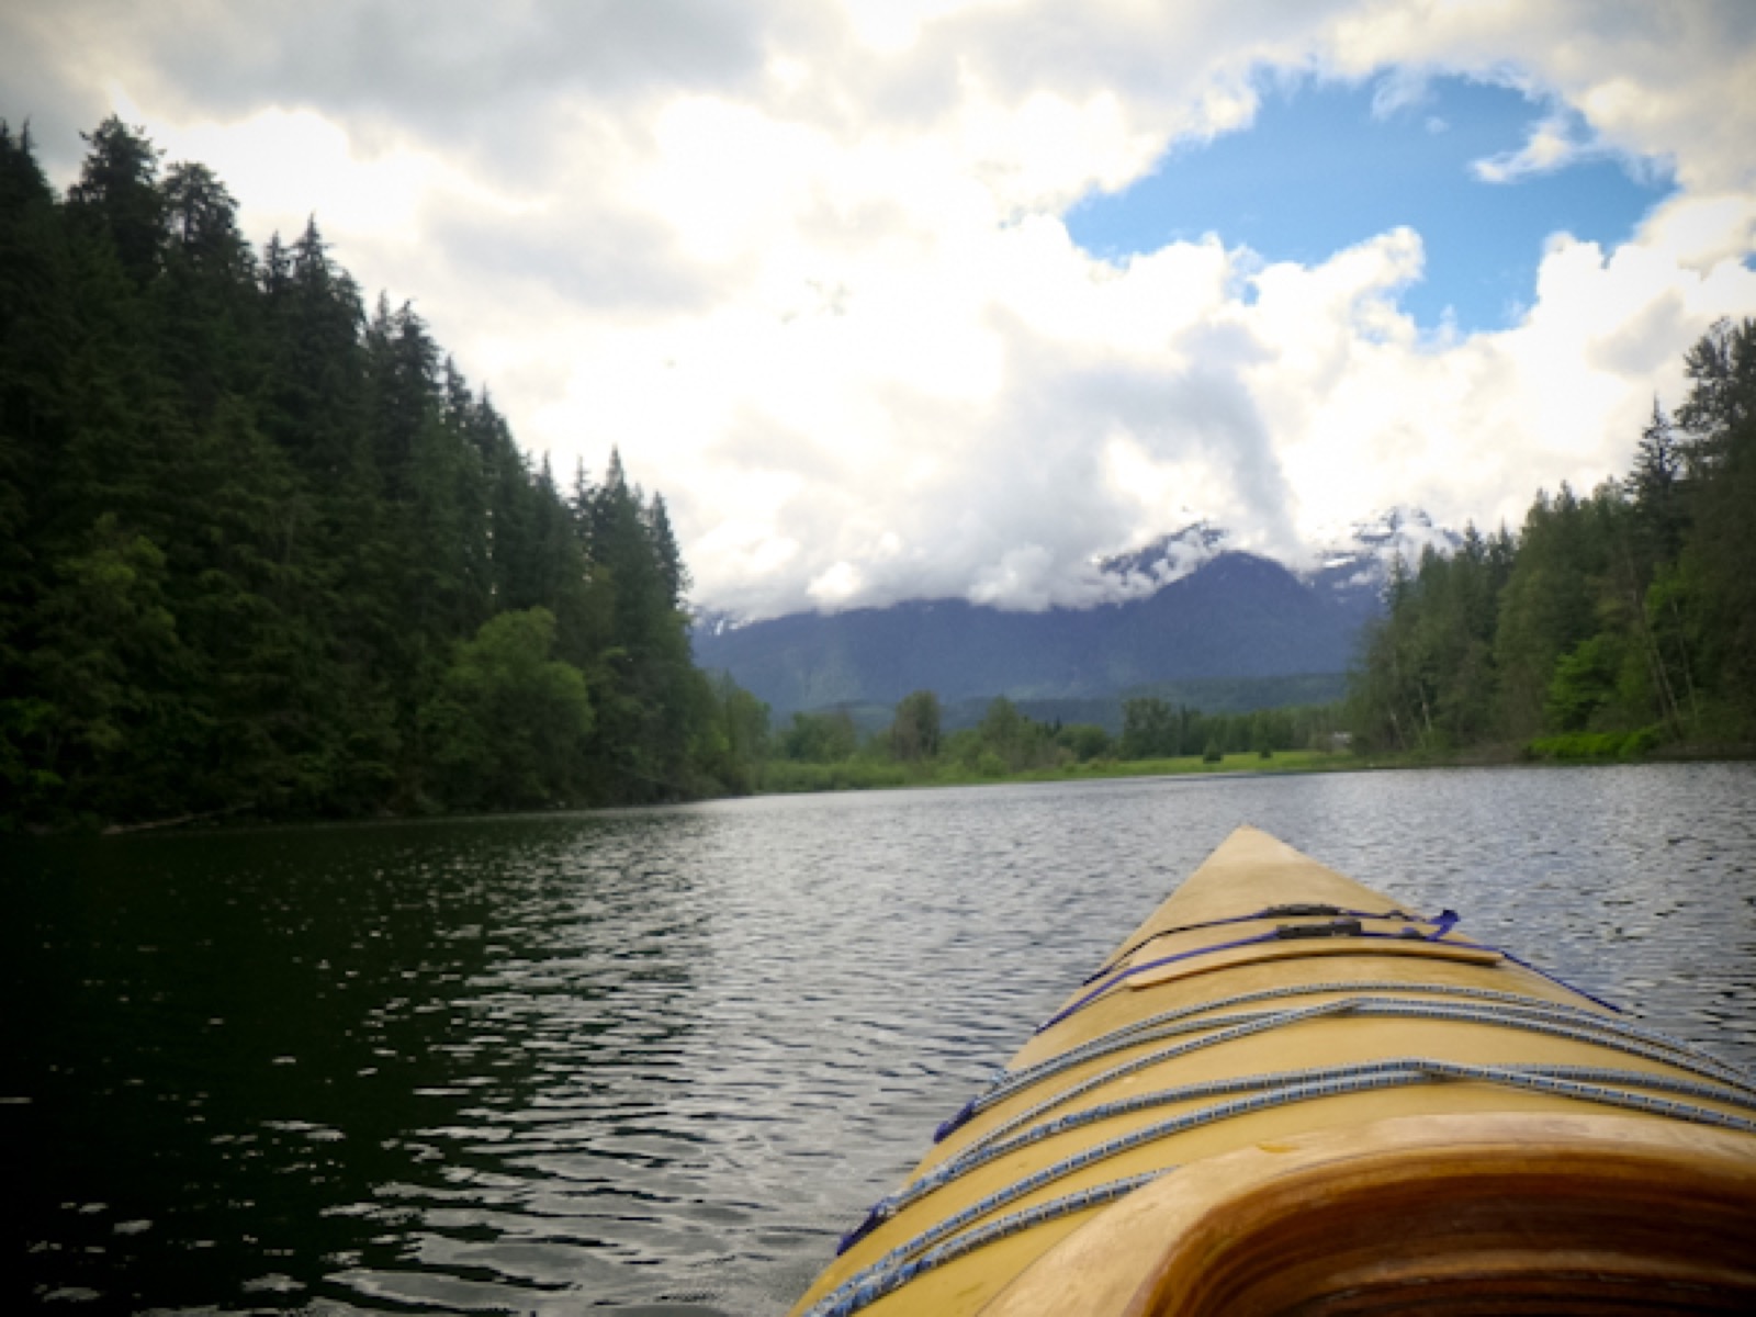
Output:
<svg viewBox="0 0 1756 1317">
<path fill-rule="evenodd" d="M 1684 369 L 1626 478 L 1394 565 L 1350 683 L 1361 748 L 1756 739 L 1756 321 L 1719 321 Z"/>
</svg>

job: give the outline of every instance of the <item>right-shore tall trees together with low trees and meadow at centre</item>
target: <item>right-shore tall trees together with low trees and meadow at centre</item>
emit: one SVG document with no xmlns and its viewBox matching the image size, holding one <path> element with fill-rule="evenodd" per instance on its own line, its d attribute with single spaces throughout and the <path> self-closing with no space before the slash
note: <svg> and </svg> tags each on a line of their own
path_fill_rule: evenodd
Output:
<svg viewBox="0 0 1756 1317">
<path fill-rule="evenodd" d="M 941 734 L 938 699 L 917 692 L 864 739 L 846 713 L 794 715 L 762 781 L 811 790 L 1285 750 L 1338 766 L 1343 745 L 1414 762 L 1747 753 L 1756 320 L 1716 323 L 1684 372 L 1688 395 L 1675 414 L 1654 402 L 1626 478 L 1589 497 L 1538 492 L 1517 534 L 1470 527 L 1452 553 L 1394 560 L 1342 704 L 1205 715 L 1140 697 L 1112 738 L 999 699 L 976 727 Z"/>
</svg>

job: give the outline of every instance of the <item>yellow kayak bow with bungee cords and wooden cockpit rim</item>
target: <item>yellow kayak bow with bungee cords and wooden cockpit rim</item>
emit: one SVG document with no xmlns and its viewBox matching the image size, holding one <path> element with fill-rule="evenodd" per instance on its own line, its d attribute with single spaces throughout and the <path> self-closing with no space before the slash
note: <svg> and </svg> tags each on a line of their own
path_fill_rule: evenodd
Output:
<svg viewBox="0 0 1756 1317">
<path fill-rule="evenodd" d="M 795 1315 L 1756 1312 L 1756 1080 L 1238 829 Z"/>
</svg>

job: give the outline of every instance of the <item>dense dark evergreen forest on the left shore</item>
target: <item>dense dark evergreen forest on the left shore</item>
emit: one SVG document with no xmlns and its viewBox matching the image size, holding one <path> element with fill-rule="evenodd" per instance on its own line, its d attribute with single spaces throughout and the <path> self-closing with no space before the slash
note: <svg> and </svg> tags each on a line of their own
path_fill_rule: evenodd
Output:
<svg viewBox="0 0 1756 1317">
<path fill-rule="evenodd" d="M 739 792 L 664 499 L 562 488 L 313 220 L 0 123 L 0 831 Z"/>
</svg>

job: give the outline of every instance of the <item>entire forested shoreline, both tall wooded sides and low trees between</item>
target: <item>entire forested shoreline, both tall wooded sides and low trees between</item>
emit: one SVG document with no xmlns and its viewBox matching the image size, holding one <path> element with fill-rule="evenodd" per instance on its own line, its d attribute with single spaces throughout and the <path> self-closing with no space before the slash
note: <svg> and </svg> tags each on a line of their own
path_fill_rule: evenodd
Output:
<svg viewBox="0 0 1756 1317">
<path fill-rule="evenodd" d="M 932 692 L 860 734 L 690 657 L 664 497 L 565 486 L 313 220 L 256 251 L 198 163 L 0 121 L 0 831 L 637 804 L 1280 750 L 1756 741 L 1756 321 L 1633 469 L 1396 564 L 1338 708 L 1133 699 L 1119 738 Z"/>
</svg>

